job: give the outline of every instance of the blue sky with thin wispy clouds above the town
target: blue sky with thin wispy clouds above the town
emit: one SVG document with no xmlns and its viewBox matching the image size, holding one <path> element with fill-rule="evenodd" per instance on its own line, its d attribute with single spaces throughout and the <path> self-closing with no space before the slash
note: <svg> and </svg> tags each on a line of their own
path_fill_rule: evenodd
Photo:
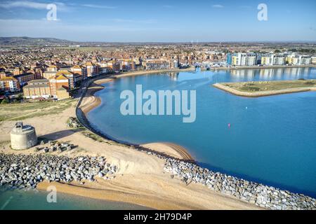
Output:
<svg viewBox="0 0 316 224">
<path fill-rule="evenodd" d="M 47 20 L 48 3 L 57 20 Z M 268 21 L 257 19 L 258 4 Z M 315 0 L 0 0 L 0 36 L 71 41 L 316 41 Z"/>
</svg>

